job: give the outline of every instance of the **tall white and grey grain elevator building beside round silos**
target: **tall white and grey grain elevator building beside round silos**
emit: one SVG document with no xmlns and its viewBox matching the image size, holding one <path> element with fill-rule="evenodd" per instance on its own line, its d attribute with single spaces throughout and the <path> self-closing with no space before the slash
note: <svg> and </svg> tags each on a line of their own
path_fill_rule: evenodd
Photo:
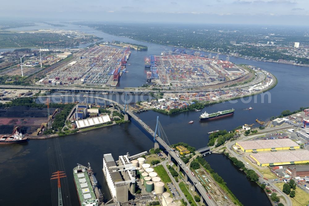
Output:
<svg viewBox="0 0 309 206">
<path fill-rule="evenodd" d="M 119 156 L 118 166 L 112 154 L 103 155 L 103 173 L 114 202 L 128 202 L 129 192 L 135 193 L 135 172 L 128 155 Z"/>
</svg>

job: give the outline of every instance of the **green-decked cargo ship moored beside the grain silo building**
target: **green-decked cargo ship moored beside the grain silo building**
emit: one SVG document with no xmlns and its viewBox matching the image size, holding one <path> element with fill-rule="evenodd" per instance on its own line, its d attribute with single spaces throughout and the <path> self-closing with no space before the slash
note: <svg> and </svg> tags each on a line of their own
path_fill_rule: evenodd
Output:
<svg viewBox="0 0 309 206">
<path fill-rule="evenodd" d="M 81 206 L 99 206 L 104 204 L 104 197 L 98 188 L 93 171 L 88 167 L 77 164 L 73 169 L 74 183 Z"/>
</svg>

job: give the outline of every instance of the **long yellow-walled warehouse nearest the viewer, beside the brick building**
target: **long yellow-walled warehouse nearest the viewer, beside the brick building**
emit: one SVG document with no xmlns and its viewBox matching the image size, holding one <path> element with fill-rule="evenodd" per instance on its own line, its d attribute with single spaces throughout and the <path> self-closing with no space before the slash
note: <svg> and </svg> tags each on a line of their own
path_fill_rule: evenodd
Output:
<svg viewBox="0 0 309 206">
<path fill-rule="evenodd" d="M 275 166 L 275 165 L 292 165 L 292 164 L 306 164 L 309 162 L 309 151 L 284 151 L 284 152 L 267 152 L 250 154 L 257 165 Z"/>
</svg>

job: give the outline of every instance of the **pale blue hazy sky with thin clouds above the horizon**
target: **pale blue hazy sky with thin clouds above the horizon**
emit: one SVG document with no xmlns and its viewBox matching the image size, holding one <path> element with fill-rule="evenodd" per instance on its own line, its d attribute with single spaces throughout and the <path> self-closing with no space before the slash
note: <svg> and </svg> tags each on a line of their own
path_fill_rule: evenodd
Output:
<svg viewBox="0 0 309 206">
<path fill-rule="evenodd" d="M 309 0 L 13 0 L 1 2 L 0 17 L 307 26 L 308 10 Z"/>
</svg>

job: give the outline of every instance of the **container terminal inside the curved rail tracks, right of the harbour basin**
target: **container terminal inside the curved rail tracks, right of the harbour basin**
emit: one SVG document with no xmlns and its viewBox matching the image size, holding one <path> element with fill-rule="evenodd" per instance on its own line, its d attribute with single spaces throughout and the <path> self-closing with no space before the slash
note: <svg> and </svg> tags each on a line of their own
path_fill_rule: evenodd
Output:
<svg viewBox="0 0 309 206">
<path fill-rule="evenodd" d="M 147 79 L 152 82 L 183 88 L 218 84 L 248 73 L 229 61 L 188 54 L 150 55 L 145 67 L 150 67 Z"/>
</svg>

